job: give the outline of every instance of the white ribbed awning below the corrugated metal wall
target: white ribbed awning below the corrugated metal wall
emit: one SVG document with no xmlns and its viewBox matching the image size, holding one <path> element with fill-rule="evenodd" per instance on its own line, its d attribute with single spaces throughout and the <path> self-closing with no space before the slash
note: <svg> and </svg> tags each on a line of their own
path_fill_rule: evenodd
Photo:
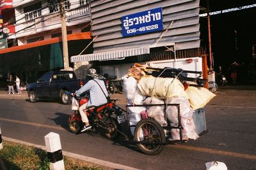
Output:
<svg viewBox="0 0 256 170">
<path fill-rule="evenodd" d="M 141 46 L 138 48 L 129 48 L 125 50 L 116 50 L 111 52 L 90 53 L 85 55 L 74 55 L 70 58 L 71 62 L 92 61 L 92 60 L 111 60 L 134 55 L 150 53 L 150 46 Z"/>
</svg>

